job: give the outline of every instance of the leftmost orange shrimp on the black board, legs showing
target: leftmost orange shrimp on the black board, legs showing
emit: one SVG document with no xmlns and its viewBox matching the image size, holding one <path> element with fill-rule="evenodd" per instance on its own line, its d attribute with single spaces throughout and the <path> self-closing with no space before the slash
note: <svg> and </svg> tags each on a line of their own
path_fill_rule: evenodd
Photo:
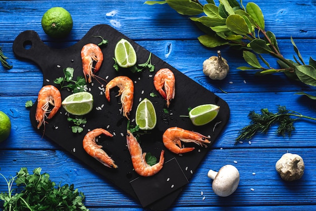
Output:
<svg viewBox="0 0 316 211">
<path fill-rule="evenodd" d="M 53 105 L 54 108 L 49 110 L 49 104 Z M 37 107 L 35 113 L 35 119 L 38 122 L 37 129 L 42 124 L 45 124 L 45 117 L 51 119 L 58 112 L 62 105 L 62 96 L 58 88 L 52 85 L 43 86 L 37 97 Z M 49 114 L 47 116 L 47 114 Z"/>
</svg>

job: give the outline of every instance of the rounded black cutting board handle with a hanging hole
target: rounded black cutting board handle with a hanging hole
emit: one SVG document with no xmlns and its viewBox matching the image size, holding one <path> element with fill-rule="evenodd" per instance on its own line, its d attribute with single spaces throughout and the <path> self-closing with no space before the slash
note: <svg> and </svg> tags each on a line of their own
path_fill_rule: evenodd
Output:
<svg viewBox="0 0 316 211">
<path fill-rule="evenodd" d="M 14 40 L 13 52 L 18 57 L 37 63 L 45 52 L 49 52 L 49 47 L 43 43 L 35 31 L 27 30 L 20 33 Z M 42 52 L 42 54 L 38 52 Z"/>
</svg>

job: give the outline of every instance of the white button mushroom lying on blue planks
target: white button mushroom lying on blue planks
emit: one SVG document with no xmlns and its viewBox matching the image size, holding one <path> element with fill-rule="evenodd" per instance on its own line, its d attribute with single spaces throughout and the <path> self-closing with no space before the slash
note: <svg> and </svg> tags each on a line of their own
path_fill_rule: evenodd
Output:
<svg viewBox="0 0 316 211">
<path fill-rule="evenodd" d="M 239 184 L 239 172 L 232 165 L 223 166 L 219 172 L 209 170 L 207 177 L 213 179 L 212 189 L 214 193 L 222 197 L 235 192 Z"/>
</svg>

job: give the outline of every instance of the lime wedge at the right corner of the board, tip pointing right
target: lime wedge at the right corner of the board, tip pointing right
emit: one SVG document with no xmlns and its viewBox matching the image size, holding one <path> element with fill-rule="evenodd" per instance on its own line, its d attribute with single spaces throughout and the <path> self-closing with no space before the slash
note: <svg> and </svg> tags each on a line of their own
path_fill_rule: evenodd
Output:
<svg viewBox="0 0 316 211">
<path fill-rule="evenodd" d="M 214 120 L 220 111 L 220 107 L 215 104 L 198 105 L 189 112 L 189 117 L 193 125 L 200 126 Z"/>
</svg>

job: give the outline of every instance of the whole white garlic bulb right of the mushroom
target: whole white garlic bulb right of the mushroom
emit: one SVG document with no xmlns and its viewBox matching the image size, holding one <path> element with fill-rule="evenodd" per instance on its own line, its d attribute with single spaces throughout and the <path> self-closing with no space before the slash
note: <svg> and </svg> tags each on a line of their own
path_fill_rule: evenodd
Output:
<svg viewBox="0 0 316 211">
<path fill-rule="evenodd" d="M 298 154 L 285 153 L 276 163 L 276 170 L 285 181 L 300 179 L 304 174 L 304 161 Z"/>
</svg>

